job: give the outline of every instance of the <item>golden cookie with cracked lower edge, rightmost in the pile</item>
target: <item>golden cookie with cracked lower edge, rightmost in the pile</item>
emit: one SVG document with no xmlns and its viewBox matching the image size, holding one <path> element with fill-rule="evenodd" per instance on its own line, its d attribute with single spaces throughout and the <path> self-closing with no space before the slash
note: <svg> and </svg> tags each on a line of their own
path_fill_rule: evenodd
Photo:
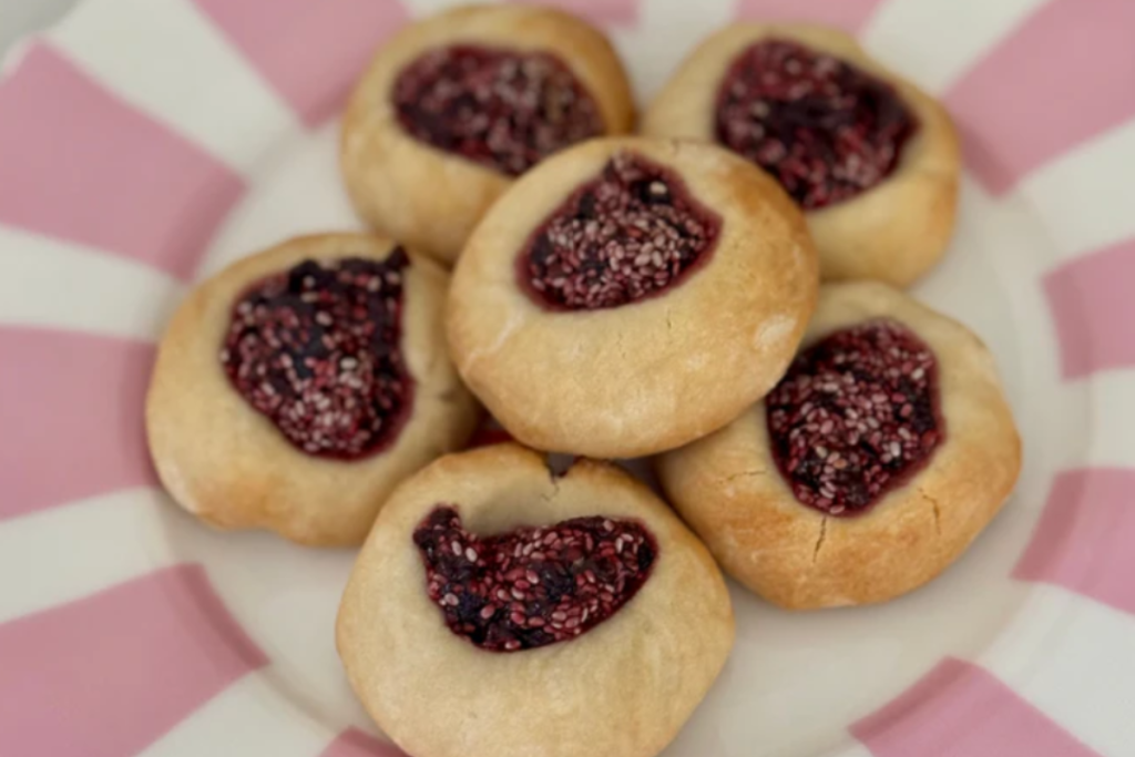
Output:
<svg viewBox="0 0 1135 757">
<path fill-rule="evenodd" d="M 762 402 L 663 455 L 670 501 L 726 573 L 790 608 L 926 583 L 993 519 L 1020 439 L 968 329 L 880 283 L 829 285 Z"/>
</svg>

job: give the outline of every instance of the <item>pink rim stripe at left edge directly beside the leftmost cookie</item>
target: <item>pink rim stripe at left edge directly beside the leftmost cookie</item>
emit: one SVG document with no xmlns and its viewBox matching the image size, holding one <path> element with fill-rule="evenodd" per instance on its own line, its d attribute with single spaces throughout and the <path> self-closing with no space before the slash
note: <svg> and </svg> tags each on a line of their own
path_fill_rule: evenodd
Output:
<svg viewBox="0 0 1135 757">
<path fill-rule="evenodd" d="M 155 482 L 143 426 L 153 358 L 141 342 L 0 329 L 0 521 Z"/>
</svg>

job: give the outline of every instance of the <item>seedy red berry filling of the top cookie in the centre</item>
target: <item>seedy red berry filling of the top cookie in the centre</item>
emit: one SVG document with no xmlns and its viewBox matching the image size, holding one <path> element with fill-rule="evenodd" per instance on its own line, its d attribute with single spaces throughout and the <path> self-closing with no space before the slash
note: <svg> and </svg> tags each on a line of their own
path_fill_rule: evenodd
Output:
<svg viewBox="0 0 1135 757">
<path fill-rule="evenodd" d="M 518 275 L 550 310 L 617 308 L 681 281 L 709 259 L 720 230 L 673 171 L 621 152 L 533 233 Z"/>
</svg>

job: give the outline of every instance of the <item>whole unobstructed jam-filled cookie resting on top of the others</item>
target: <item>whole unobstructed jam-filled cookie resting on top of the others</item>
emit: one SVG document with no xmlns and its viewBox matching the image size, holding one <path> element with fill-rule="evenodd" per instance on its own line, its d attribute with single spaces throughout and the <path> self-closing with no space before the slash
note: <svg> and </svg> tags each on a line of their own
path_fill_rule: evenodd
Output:
<svg viewBox="0 0 1135 757">
<path fill-rule="evenodd" d="M 800 212 L 711 144 L 592 140 L 474 230 L 449 293 L 465 382 L 518 440 L 590 457 L 670 449 L 788 368 L 815 305 Z"/>
</svg>

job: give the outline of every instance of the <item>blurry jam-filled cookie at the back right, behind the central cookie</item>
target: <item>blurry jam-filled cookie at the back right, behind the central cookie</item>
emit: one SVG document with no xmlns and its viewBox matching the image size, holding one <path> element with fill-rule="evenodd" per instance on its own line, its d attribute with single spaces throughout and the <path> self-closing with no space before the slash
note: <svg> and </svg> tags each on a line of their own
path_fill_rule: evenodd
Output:
<svg viewBox="0 0 1135 757">
<path fill-rule="evenodd" d="M 960 173 L 949 113 L 843 32 L 729 26 L 682 64 L 642 131 L 716 142 L 775 177 L 825 279 L 906 286 L 949 244 Z"/>
</svg>

